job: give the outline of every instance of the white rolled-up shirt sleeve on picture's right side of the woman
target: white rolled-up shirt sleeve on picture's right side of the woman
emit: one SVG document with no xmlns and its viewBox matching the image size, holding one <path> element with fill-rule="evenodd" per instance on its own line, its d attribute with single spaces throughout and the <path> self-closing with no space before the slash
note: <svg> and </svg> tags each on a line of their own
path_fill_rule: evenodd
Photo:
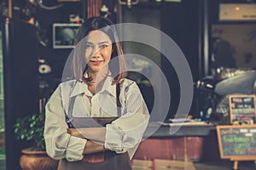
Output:
<svg viewBox="0 0 256 170">
<path fill-rule="evenodd" d="M 124 94 L 121 95 L 125 113 L 107 125 L 105 148 L 117 153 L 128 151 L 129 156 L 132 157 L 143 138 L 149 113 L 143 95 L 135 82 L 125 88 Z"/>
</svg>

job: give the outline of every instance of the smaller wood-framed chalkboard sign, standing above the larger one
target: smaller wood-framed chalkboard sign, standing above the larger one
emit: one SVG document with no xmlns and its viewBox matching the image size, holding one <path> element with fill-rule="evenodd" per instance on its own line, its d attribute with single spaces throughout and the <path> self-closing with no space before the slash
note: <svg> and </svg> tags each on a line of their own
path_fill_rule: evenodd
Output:
<svg viewBox="0 0 256 170">
<path fill-rule="evenodd" d="M 230 123 L 247 122 L 256 116 L 255 95 L 230 95 Z"/>
</svg>

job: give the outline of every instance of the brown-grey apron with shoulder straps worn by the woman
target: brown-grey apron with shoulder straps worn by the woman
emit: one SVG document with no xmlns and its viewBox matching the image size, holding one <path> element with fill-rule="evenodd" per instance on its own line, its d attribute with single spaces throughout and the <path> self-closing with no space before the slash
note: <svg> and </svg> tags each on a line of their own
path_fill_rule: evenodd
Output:
<svg viewBox="0 0 256 170">
<path fill-rule="evenodd" d="M 102 127 L 113 122 L 121 116 L 120 101 L 119 101 L 119 84 L 116 87 L 118 116 L 117 117 L 72 117 L 74 99 L 69 101 L 69 107 L 66 114 L 66 122 L 68 127 Z M 89 162 L 83 159 L 82 161 L 67 161 L 62 159 L 59 161 L 58 170 L 131 170 L 131 161 L 128 152 L 117 154 L 114 151 L 106 150 L 101 153 L 104 156 L 104 161 Z M 85 158 L 86 156 L 84 156 Z M 97 157 L 97 155 L 95 155 Z"/>
</svg>

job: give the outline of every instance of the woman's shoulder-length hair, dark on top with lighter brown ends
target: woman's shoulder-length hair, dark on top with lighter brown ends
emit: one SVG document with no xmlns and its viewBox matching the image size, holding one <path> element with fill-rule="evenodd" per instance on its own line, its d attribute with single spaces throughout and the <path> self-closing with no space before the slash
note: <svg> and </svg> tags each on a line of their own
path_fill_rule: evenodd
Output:
<svg viewBox="0 0 256 170">
<path fill-rule="evenodd" d="M 90 82 L 90 78 L 84 77 L 84 71 L 87 70 L 86 62 L 84 61 L 84 37 L 89 35 L 90 31 L 101 30 L 106 33 L 109 39 L 112 41 L 113 52 L 111 54 L 111 59 L 113 57 L 118 57 L 119 68 L 118 74 L 113 78 L 113 83 L 118 83 L 122 78 L 126 77 L 126 63 L 123 54 L 123 50 L 120 47 L 119 39 L 113 22 L 103 17 L 92 17 L 85 20 L 82 26 L 79 28 L 78 36 L 76 37 L 76 47 L 74 48 L 73 55 L 73 76 L 79 81 Z M 111 70 L 111 69 L 110 69 Z M 116 69 L 115 69 L 116 70 Z"/>
</svg>

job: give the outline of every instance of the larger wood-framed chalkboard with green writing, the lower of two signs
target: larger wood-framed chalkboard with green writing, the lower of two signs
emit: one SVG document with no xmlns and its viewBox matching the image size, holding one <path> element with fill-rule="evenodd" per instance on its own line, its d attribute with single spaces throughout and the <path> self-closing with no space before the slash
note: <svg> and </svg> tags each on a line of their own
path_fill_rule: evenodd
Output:
<svg viewBox="0 0 256 170">
<path fill-rule="evenodd" d="M 256 125 L 217 126 L 220 157 L 256 160 Z"/>
</svg>

